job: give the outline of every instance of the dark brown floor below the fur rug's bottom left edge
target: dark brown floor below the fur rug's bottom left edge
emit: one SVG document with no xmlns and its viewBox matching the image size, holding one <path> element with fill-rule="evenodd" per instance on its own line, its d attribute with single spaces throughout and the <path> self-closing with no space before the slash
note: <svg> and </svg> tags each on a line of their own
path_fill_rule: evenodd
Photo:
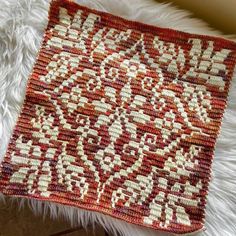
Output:
<svg viewBox="0 0 236 236">
<path fill-rule="evenodd" d="M 94 232 L 86 232 L 80 228 L 72 228 L 63 219 L 43 219 L 35 216 L 27 206 L 19 209 L 9 199 L 5 203 L 0 202 L 0 212 L 0 236 L 108 236 L 100 227 L 96 227 Z"/>
</svg>

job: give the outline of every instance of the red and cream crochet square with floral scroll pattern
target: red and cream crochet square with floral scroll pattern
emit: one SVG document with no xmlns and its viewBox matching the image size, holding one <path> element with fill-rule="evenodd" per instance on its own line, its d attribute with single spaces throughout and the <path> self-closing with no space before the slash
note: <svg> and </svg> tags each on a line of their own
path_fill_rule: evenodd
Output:
<svg viewBox="0 0 236 236">
<path fill-rule="evenodd" d="M 0 190 L 201 229 L 236 44 L 52 1 Z"/>
</svg>

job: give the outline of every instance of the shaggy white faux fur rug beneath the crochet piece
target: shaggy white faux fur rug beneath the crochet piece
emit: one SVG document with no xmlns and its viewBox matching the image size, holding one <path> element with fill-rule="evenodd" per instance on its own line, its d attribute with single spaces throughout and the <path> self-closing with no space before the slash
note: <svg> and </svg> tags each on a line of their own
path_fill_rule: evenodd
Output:
<svg viewBox="0 0 236 236">
<path fill-rule="evenodd" d="M 191 33 L 219 35 L 200 20 L 168 4 L 152 0 L 78 0 L 77 2 L 125 18 Z M 28 76 L 47 23 L 49 0 L 0 0 L 0 160 L 23 102 Z M 213 162 L 212 181 L 206 210 L 206 230 L 201 236 L 236 235 L 236 73 L 231 86 Z M 143 229 L 102 214 L 57 204 L 28 202 L 35 213 L 66 217 L 73 225 L 99 222 L 114 234 L 166 235 Z"/>
</svg>

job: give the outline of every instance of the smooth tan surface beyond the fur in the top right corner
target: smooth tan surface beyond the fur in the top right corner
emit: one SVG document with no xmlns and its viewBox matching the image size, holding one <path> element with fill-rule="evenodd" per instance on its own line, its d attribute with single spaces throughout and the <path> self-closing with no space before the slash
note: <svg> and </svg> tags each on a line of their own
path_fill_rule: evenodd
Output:
<svg viewBox="0 0 236 236">
<path fill-rule="evenodd" d="M 236 0 L 157 0 L 173 2 L 173 5 L 187 9 L 196 18 L 203 19 L 211 27 L 225 34 L 236 35 Z"/>
</svg>

